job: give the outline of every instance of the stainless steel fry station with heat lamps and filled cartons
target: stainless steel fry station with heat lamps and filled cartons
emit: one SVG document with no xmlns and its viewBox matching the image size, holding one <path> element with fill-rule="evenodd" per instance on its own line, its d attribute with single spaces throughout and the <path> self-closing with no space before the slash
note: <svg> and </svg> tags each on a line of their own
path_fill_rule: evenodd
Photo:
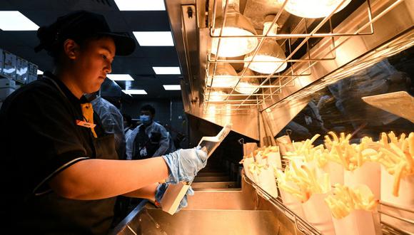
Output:
<svg viewBox="0 0 414 235">
<path fill-rule="evenodd" d="M 118 234 L 414 233 L 413 1 L 166 8 L 186 113 L 232 122 L 243 157 L 223 152 L 186 209 L 143 203 Z"/>
</svg>

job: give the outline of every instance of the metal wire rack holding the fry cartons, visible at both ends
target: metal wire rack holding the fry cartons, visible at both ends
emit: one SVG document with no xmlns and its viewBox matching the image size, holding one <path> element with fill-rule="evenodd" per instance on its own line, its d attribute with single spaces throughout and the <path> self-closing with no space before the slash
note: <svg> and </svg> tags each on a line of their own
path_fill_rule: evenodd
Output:
<svg viewBox="0 0 414 235">
<path fill-rule="evenodd" d="M 281 211 L 286 217 L 291 219 L 291 221 L 295 224 L 296 229 L 303 232 L 303 234 L 320 235 L 320 231 L 318 231 L 318 229 L 316 229 L 314 226 L 312 226 L 312 224 L 309 224 L 308 221 L 306 221 L 306 219 L 301 218 L 301 216 L 298 216 L 297 214 L 295 214 L 295 212 L 291 211 L 291 209 L 288 209 L 288 207 L 286 207 L 285 204 L 283 204 L 283 200 L 280 196 L 281 194 L 278 194 L 278 197 L 275 198 L 271 196 L 271 194 L 268 194 L 268 192 L 266 192 L 260 186 L 258 186 L 258 184 L 249 179 L 246 176 L 246 174 L 242 174 L 242 178 L 246 183 L 251 184 L 251 186 L 256 189 L 256 192 L 258 194 L 260 194 L 264 199 L 268 200 L 268 202 L 271 202 L 271 204 L 273 204 L 274 207 Z M 278 191 L 280 192 L 279 189 Z M 398 212 L 397 214 L 393 214 L 388 212 L 386 208 L 394 209 L 394 211 Z M 414 221 L 405 218 L 404 216 L 401 216 L 399 213 L 400 211 L 405 211 L 405 216 L 407 216 L 407 214 L 409 214 L 408 216 L 411 218 L 414 216 L 414 211 L 398 207 L 394 204 L 389 204 L 386 202 L 380 202 L 380 209 L 378 209 L 378 213 L 381 215 L 390 216 L 391 218 L 395 219 L 395 221 L 402 221 L 405 224 L 410 224 L 409 226 L 414 226 Z M 383 231 L 383 234 L 408 234 L 408 232 L 404 229 L 397 228 L 395 225 L 388 224 L 385 221 L 380 221 L 380 226 Z"/>
</svg>

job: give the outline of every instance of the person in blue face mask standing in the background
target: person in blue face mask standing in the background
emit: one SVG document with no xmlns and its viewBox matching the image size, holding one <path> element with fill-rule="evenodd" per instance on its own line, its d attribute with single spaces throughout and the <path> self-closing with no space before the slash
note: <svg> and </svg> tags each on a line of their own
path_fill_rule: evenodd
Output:
<svg viewBox="0 0 414 235">
<path fill-rule="evenodd" d="M 126 140 L 126 159 L 141 160 L 171 151 L 171 135 L 166 128 L 153 121 L 155 108 L 144 105 L 139 120 L 141 125 L 131 132 Z"/>
</svg>

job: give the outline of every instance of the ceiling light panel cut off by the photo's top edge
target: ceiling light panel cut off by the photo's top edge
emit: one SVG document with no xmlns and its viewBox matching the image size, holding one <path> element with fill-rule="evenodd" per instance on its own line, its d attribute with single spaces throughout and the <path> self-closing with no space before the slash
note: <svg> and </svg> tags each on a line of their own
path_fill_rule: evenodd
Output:
<svg viewBox="0 0 414 235">
<path fill-rule="evenodd" d="M 115 0 L 120 11 L 165 11 L 163 0 Z"/>
</svg>

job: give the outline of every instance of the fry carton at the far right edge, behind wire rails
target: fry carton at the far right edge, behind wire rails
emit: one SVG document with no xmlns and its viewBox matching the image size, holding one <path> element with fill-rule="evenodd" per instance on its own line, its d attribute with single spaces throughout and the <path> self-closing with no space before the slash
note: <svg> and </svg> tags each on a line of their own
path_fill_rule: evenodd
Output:
<svg viewBox="0 0 414 235">
<path fill-rule="evenodd" d="M 381 164 L 381 201 L 414 211 L 414 132 L 400 137 L 393 132 L 383 133 L 374 146 Z M 414 213 L 386 206 L 381 206 L 381 211 L 391 215 L 381 216 L 385 223 L 414 234 L 413 224 L 393 218 L 414 221 Z"/>
</svg>

